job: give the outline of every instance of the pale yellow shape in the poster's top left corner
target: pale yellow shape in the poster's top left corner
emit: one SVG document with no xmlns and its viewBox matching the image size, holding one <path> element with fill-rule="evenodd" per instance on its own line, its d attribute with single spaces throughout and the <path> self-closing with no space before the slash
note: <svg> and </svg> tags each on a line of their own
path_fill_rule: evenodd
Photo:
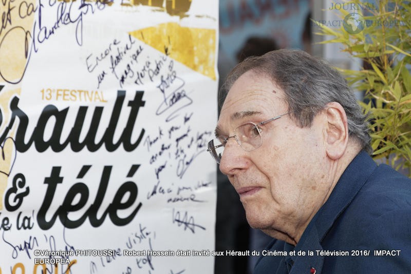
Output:
<svg viewBox="0 0 411 274">
<path fill-rule="evenodd" d="M 0 31 L 0 82 L 12 83 L 21 79 L 31 47 L 31 29 L 36 2 L 3 0 L 3 27 Z"/>
</svg>

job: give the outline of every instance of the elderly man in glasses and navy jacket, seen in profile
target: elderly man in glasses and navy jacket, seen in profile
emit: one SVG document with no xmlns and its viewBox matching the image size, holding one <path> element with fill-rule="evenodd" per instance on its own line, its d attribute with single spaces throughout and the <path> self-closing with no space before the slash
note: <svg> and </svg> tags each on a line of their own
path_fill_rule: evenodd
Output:
<svg viewBox="0 0 411 274">
<path fill-rule="evenodd" d="M 278 50 L 237 65 L 225 87 L 208 150 L 249 224 L 275 238 L 254 273 L 409 273 L 411 180 L 370 158 L 343 77 Z"/>
</svg>

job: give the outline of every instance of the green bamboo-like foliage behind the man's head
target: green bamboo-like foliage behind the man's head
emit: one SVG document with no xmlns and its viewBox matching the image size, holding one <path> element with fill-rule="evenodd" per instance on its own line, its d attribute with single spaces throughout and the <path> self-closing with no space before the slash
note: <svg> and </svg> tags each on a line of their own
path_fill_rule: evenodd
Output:
<svg viewBox="0 0 411 274">
<path fill-rule="evenodd" d="M 316 34 L 333 36 L 322 43 L 342 43 L 343 51 L 364 61 L 359 71 L 339 70 L 350 86 L 365 91 L 368 103 L 360 104 L 370 114 L 373 157 L 397 170 L 408 169 L 411 176 L 411 3 L 382 0 L 375 7 L 362 14 L 367 24 L 358 34 L 348 33 L 343 26 L 320 26 Z M 335 12 L 341 18 L 348 14 L 343 9 Z"/>
</svg>

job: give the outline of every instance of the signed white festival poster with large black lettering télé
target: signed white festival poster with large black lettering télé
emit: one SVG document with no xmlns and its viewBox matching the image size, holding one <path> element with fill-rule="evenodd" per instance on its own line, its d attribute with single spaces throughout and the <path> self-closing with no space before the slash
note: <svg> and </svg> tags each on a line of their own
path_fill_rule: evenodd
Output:
<svg viewBox="0 0 411 274">
<path fill-rule="evenodd" d="M 0 5 L 0 273 L 212 273 L 218 1 Z"/>
</svg>

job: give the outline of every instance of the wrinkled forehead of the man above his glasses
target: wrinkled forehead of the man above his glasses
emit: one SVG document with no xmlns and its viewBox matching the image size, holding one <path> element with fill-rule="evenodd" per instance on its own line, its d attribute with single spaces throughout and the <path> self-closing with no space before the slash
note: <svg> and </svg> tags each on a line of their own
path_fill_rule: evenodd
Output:
<svg viewBox="0 0 411 274">
<path fill-rule="evenodd" d="M 231 86 L 221 107 L 218 126 L 229 125 L 245 116 L 276 115 L 287 107 L 281 88 L 266 75 L 248 71 Z"/>
</svg>

